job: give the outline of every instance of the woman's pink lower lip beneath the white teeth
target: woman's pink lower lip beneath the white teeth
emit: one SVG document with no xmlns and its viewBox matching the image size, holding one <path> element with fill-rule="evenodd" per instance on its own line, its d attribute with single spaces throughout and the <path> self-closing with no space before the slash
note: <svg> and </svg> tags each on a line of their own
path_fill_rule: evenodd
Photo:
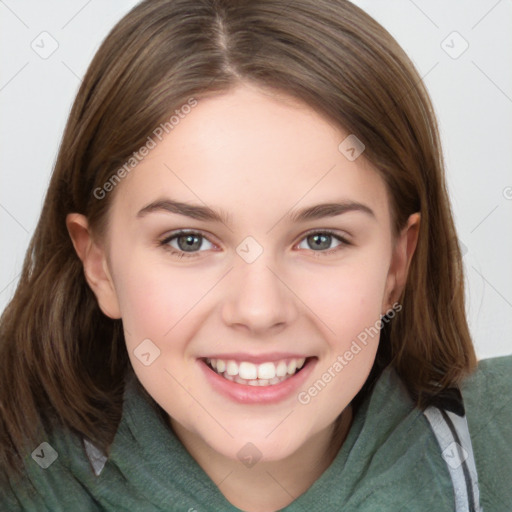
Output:
<svg viewBox="0 0 512 512">
<path fill-rule="evenodd" d="M 316 365 L 317 358 L 306 360 L 306 364 L 293 377 L 272 386 L 249 386 L 221 377 L 204 360 L 198 359 L 206 378 L 213 389 L 220 394 L 242 404 L 273 404 L 290 397 L 309 377 Z"/>
</svg>

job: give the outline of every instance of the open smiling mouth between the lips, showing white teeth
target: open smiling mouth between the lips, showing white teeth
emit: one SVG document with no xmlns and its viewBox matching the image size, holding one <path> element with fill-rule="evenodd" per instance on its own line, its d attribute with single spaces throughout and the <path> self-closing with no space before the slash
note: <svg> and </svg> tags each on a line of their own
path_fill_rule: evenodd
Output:
<svg viewBox="0 0 512 512">
<path fill-rule="evenodd" d="M 226 380 L 247 386 L 275 386 L 301 372 L 314 357 L 290 358 L 254 364 L 205 358 L 206 365 Z"/>
</svg>

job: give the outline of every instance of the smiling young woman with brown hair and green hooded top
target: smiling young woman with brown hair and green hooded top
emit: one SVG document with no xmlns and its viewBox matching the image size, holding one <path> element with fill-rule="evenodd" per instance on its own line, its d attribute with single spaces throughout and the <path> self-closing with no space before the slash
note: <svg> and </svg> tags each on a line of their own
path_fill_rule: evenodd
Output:
<svg viewBox="0 0 512 512">
<path fill-rule="evenodd" d="M 343 0 L 146 0 L 0 328 L 2 510 L 505 511 L 428 94 Z"/>
</svg>

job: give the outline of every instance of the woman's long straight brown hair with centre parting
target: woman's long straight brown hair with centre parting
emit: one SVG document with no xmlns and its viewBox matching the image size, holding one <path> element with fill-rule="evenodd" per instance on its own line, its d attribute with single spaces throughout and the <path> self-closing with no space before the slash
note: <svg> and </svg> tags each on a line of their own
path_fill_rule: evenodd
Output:
<svg viewBox="0 0 512 512">
<path fill-rule="evenodd" d="M 84 77 L 1 317 L 2 472 L 56 425 L 108 453 L 129 359 L 121 321 L 100 311 L 85 281 L 66 215 L 86 215 L 101 234 L 114 192 L 99 200 L 94 190 L 174 109 L 241 81 L 294 96 L 355 134 L 387 184 L 395 231 L 421 213 L 379 367 L 396 368 L 418 407 L 474 370 L 435 115 L 391 35 L 346 0 L 146 0 L 112 29 Z"/>
</svg>

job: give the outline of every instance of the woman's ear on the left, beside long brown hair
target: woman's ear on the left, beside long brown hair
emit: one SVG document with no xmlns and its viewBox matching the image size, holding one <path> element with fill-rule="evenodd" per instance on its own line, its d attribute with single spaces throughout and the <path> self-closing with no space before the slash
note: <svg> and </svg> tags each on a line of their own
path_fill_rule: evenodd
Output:
<svg viewBox="0 0 512 512">
<path fill-rule="evenodd" d="M 79 213 L 70 213 L 66 216 L 66 226 L 75 251 L 84 266 L 85 279 L 96 295 L 101 311 L 110 318 L 121 318 L 106 253 L 94 241 L 87 217 Z"/>
</svg>

